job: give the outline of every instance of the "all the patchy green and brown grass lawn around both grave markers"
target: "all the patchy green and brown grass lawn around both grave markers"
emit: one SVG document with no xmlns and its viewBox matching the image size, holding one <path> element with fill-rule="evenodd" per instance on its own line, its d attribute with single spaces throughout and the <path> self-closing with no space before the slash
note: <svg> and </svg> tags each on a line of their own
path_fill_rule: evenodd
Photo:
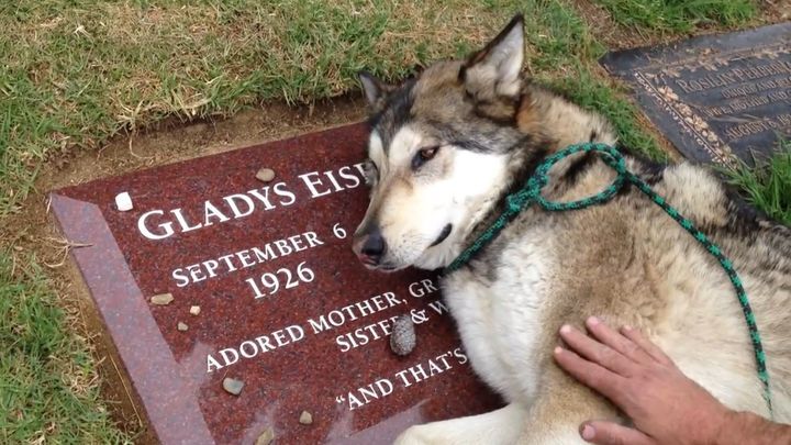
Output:
<svg viewBox="0 0 791 445">
<path fill-rule="evenodd" d="M 667 34 L 744 24 L 756 13 L 747 0 L 594 2 L 623 26 Z M 623 91 L 602 77 L 604 47 L 571 0 L 3 1 L 0 220 L 43 205 L 42 168 L 115 134 L 268 100 L 335 97 L 358 88 L 363 68 L 399 78 L 478 47 L 516 11 L 526 18 L 528 73 L 603 111 L 624 143 L 662 157 Z M 783 163 L 775 170 L 789 171 Z M 89 342 L 42 262 L 14 240 L 0 223 L 0 443 L 131 441 L 100 397 Z"/>
</svg>

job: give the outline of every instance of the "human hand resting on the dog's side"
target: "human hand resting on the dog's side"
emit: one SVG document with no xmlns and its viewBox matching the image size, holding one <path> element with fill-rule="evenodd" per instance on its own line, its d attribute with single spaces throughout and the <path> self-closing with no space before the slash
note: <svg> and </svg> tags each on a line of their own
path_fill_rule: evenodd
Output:
<svg viewBox="0 0 791 445">
<path fill-rule="evenodd" d="M 588 421 L 580 426 L 587 442 L 621 444 L 708 444 L 733 413 L 684 376 L 658 346 L 630 326 L 620 333 L 597 318 L 586 321 L 592 335 L 564 325 L 569 349 L 555 348 L 558 365 L 599 391 L 632 419 L 635 429 Z"/>
</svg>

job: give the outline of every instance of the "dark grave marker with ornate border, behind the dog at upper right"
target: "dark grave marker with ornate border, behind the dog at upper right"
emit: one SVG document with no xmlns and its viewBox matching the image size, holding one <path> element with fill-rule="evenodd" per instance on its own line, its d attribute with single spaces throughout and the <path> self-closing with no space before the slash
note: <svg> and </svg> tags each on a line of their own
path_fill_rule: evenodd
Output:
<svg viewBox="0 0 791 445">
<path fill-rule="evenodd" d="M 611 53 L 650 120 L 702 162 L 751 164 L 791 135 L 791 23 Z"/>
</svg>

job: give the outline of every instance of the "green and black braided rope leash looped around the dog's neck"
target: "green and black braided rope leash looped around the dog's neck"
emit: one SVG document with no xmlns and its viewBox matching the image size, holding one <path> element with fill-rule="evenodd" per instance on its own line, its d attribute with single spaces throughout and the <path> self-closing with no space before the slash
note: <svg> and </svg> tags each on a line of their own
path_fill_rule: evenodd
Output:
<svg viewBox="0 0 791 445">
<path fill-rule="evenodd" d="M 615 180 L 601 192 L 577 201 L 556 202 L 546 200 L 541 192 L 549 181 L 549 169 L 559 160 L 580 152 L 599 152 L 602 155 L 602 160 L 604 160 L 604 163 L 617 173 Z M 714 256 L 717 262 L 720 262 L 720 265 L 725 270 L 725 274 L 727 274 L 731 279 L 731 283 L 736 290 L 736 297 L 738 298 L 745 320 L 747 321 L 747 329 L 749 330 L 750 342 L 753 343 L 753 351 L 755 352 L 758 379 L 761 381 L 764 387 L 764 400 L 766 400 L 766 403 L 769 407 L 769 413 L 772 414 L 771 393 L 769 390 L 769 372 L 767 370 L 764 346 L 761 344 L 760 334 L 758 333 L 758 325 L 756 323 L 753 309 L 750 308 L 749 300 L 747 299 L 747 292 L 745 291 L 742 280 L 734 269 L 733 263 L 731 263 L 731 260 L 722 253 L 720 247 L 712 243 L 711 240 L 703 234 L 703 232 L 699 231 L 694 226 L 692 221 L 681 216 L 678 210 L 667 203 L 665 198 L 657 194 L 643 179 L 627 170 L 623 155 L 614 147 L 598 143 L 577 144 L 546 158 L 538 166 L 535 174 L 533 174 L 533 176 L 527 180 L 525 187 L 505 198 L 505 211 L 489 229 L 487 229 L 486 232 L 478 237 L 478 240 L 461 252 L 461 254 L 445 268 L 444 272 L 453 272 L 467 264 L 472 256 L 480 252 L 487 244 L 491 243 L 500 231 L 502 231 L 505 225 L 511 222 L 523 209 L 532 205 L 533 203 L 538 203 L 538 205 L 541 205 L 544 210 L 553 212 L 584 209 L 609 201 L 626 182 L 635 185 L 643 193 L 648 196 L 651 201 L 665 210 L 670 218 L 676 220 L 679 225 L 698 240 L 698 242 L 703 245 L 703 247 L 705 247 L 705 249 Z"/>
</svg>

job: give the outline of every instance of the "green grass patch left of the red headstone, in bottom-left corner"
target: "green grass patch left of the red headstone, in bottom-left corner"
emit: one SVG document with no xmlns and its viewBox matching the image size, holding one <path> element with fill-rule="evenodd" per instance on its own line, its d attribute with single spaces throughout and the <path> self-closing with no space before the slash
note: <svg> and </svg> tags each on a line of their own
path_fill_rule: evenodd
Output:
<svg viewBox="0 0 791 445">
<path fill-rule="evenodd" d="M 0 255 L 0 443 L 122 443 L 97 389 L 94 358 L 64 323 L 34 260 Z"/>
</svg>

